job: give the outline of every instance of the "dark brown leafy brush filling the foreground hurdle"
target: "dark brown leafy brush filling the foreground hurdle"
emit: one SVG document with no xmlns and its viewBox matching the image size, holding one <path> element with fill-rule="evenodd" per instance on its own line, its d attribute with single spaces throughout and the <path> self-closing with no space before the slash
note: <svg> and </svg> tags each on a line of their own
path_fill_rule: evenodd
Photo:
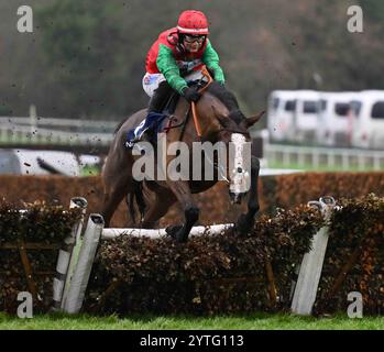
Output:
<svg viewBox="0 0 384 352">
<path fill-rule="evenodd" d="M 276 178 L 271 179 L 276 182 Z M 295 184 L 297 178 L 290 182 Z M 365 187 L 362 184 L 362 188 Z M 351 193 L 358 191 L 351 189 Z M 289 199 L 287 195 L 285 197 Z M 316 199 L 315 196 L 308 198 L 306 201 Z M 344 311 L 350 304 L 347 296 L 354 290 L 363 295 L 364 314 L 383 314 L 384 198 L 373 194 L 336 198 L 339 208 L 330 219 L 315 314 Z M 0 202 L 0 248 L 19 239 L 62 243 L 80 216 L 76 209 L 68 211 L 44 202 L 24 208 L 26 212 L 20 217 L 17 207 Z M 151 240 L 130 235 L 102 241 L 85 310 L 197 315 L 288 310 L 296 266 L 323 220 L 318 210 L 306 206 L 276 208 L 274 212 L 275 216 L 261 216 L 246 237 L 231 230 L 215 237 L 191 238 L 187 244 L 177 244 L 167 238 Z M 353 256 L 355 262 L 351 262 L 345 278 L 330 296 L 342 267 Z M 35 279 L 43 300 L 35 307 L 37 311 L 46 311 L 52 304 L 57 251 L 29 251 L 29 257 L 34 272 L 42 273 Z M 268 263 L 274 274 L 276 304 L 266 275 Z M 114 283 L 117 288 L 105 298 L 103 294 Z M 0 249 L 0 310 L 14 314 L 17 293 L 21 290 L 28 290 L 28 285 L 19 251 Z"/>
</svg>

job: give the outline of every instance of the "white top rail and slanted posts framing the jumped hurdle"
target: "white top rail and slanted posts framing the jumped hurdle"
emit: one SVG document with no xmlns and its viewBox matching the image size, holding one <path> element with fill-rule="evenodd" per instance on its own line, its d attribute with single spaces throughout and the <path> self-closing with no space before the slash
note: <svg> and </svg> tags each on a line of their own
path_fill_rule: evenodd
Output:
<svg viewBox="0 0 384 352">
<path fill-rule="evenodd" d="M 322 197 L 319 201 L 310 201 L 308 206 L 319 209 L 326 221 L 329 220 L 336 201 L 332 197 Z M 83 224 L 81 224 L 83 227 Z M 233 227 L 233 223 L 194 227 L 190 235 L 218 234 Z M 76 227 L 75 227 L 76 228 Z M 80 238 L 80 224 L 74 229 L 72 239 L 76 238 L 70 254 L 62 297 L 56 294 L 56 307 L 68 314 L 80 311 L 89 282 L 95 255 L 100 240 L 112 240 L 121 235 L 149 237 L 158 239 L 166 235 L 165 229 L 113 229 L 105 228 L 101 215 L 91 213 L 88 218 L 84 237 Z M 301 265 L 297 268 L 298 279 L 293 283 L 292 312 L 310 315 L 316 300 L 318 285 L 321 276 L 322 264 L 326 256 L 329 227 L 321 228 L 312 239 L 311 251 L 303 257 Z M 74 235 L 76 233 L 76 235 Z M 59 265 L 58 265 L 59 266 Z M 62 271 L 63 272 L 63 271 Z M 64 275 L 59 272 L 62 275 Z M 56 286 L 58 286 L 56 284 Z M 56 289 L 57 293 L 59 289 Z M 61 298 L 61 300 L 59 300 Z"/>
</svg>

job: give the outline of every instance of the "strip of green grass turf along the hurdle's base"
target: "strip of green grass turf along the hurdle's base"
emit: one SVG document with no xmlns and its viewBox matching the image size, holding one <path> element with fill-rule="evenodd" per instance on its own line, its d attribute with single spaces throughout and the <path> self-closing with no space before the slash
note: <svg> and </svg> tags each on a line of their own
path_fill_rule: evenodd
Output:
<svg viewBox="0 0 384 352">
<path fill-rule="evenodd" d="M 350 319 L 345 314 L 329 318 L 284 314 L 248 316 L 150 316 L 92 317 L 63 314 L 20 319 L 0 314 L 0 330 L 384 330 L 384 317 Z"/>
</svg>

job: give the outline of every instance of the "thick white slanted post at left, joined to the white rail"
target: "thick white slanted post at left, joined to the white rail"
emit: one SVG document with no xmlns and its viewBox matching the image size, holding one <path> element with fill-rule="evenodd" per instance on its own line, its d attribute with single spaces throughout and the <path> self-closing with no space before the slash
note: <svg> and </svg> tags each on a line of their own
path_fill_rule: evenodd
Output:
<svg viewBox="0 0 384 352">
<path fill-rule="evenodd" d="M 68 295 L 65 301 L 63 301 L 63 310 L 65 312 L 76 314 L 81 309 L 103 224 L 105 222 L 100 215 L 91 213 L 89 216 L 78 260 L 70 278 Z"/>
</svg>

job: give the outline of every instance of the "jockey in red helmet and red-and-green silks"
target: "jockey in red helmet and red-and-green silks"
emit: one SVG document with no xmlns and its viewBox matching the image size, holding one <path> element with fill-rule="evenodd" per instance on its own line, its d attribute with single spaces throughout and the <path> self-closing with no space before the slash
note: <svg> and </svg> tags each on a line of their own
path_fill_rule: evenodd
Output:
<svg viewBox="0 0 384 352">
<path fill-rule="evenodd" d="M 188 87 L 186 76 L 202 65 L 212 73 L 215 80 L 224 84 L 219 66 L 219 55 L 208 40 L 208 21 L 200 11 L 184 11 L 177 26 L 160 34 L 146 56 L 144 91 L 151 97 L 149 114 L 161 113 L 163 105 L 173 90 L 187 101 L 197 101 L 199 92 Z"/>
</svg>

